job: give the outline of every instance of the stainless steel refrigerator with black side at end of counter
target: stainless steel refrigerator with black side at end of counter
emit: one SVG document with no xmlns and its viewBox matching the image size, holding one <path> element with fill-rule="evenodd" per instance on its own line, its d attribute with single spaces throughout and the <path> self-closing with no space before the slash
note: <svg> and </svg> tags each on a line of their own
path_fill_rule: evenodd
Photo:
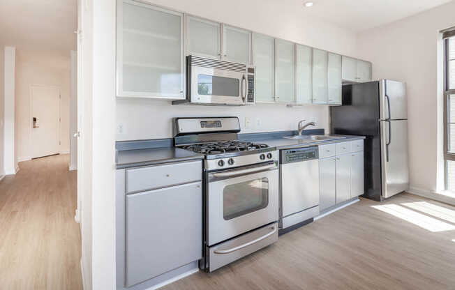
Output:
<svg viewBox="0 0 455 290">
<path fill-rule="evenodd" d="M 343 86 L 331 107 L 333 134 L 364 135 L 364 197 L 382 201 L 409 188 L 408 98 L 402 82 Z"/>
</svg>

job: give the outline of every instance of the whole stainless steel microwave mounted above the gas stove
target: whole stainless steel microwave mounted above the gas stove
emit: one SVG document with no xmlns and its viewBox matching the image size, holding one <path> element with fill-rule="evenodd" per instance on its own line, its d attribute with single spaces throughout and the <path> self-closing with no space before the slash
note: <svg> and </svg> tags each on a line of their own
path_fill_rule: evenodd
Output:
<svg viewBox="0 0 455 290">
<path fill-rule="evenodd" d="M 255 68 L 200 56 L 186 56 L 186 100 L 172 104 L 253 105 Z"/>
</svg>

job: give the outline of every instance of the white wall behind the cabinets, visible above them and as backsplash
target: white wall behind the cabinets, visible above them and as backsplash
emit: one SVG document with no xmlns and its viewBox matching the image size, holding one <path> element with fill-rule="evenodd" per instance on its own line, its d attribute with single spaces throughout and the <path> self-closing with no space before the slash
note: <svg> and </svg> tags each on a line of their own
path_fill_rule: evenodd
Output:
<svg viewBox="0 0 455 290">
<path fill-rule="evenodd" d="M 149 0 L 150 3 L 244 27 L 277 38 L 318 47 L 331 52 L 356 55 L 355 34 L 304 15 L 299 1 L 275 0 Z M 327 106 L 307 105 L 287 108 L 284 105 L 249 107 L 171 106 L 158 100 L 117 100 L 117 125 L 123 134 L 117 140 L 172 137 L 171 119 L 176 116 L 239 116 L 241 132 L 296 130 L 301 119 L 317 121 L 318 128 L 329 129 Z M 245 128 L 245 117 L 251 128 Z M 260 119 L 261 125 L 256 123 Z"/>
</svg>

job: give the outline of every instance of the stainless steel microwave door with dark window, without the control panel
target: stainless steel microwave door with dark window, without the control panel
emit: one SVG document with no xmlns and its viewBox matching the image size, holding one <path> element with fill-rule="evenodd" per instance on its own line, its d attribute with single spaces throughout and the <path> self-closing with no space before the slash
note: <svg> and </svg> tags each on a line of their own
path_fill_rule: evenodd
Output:
<svg viewBox="0 0 455 290">
<path fill-rule="evenodd" d="M 191 66 L 191 102 L 244 105 L 247 91 L 246 73 Z"/>
</svg>

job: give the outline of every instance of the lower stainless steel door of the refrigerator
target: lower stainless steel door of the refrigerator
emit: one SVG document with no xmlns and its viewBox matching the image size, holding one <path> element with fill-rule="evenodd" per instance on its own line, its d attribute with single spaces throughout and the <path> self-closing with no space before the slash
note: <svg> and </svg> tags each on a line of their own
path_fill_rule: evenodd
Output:
<svg viewBox="0 0 455 290">
<path fill-rule="evenodd" d="M 408 120 L 380 121 L 382 197 L 409 188 Z"/>
</svg>

